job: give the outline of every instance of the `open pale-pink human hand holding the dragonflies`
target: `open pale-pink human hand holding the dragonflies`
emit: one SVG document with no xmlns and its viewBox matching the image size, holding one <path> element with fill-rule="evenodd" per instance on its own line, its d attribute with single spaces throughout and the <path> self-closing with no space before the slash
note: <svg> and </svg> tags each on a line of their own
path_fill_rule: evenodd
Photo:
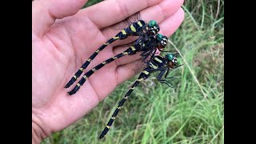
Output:
<svg viewBox="0 0 256 144">
<path fill-rule="evenodd" d="M 160 34 L 169 37 L 183 21 L 182 0 L 107 0 L 80 10 L 86 0 L 35 0 L 32 2 L 32 142 L 62 130 L 87 114 L 116 86 L 141 68 L 139 54 L 117 59 L 90 77 L 70 96 L 63 87 L 86 58 L 117 34 L 111 25 L 140 12 L 142 20 L 155 20 Z M 87 70 L 121 53 L 114 42 L 102 50 Z M 71 86 L 71 89 L 73 87 Z"/>
</svg>

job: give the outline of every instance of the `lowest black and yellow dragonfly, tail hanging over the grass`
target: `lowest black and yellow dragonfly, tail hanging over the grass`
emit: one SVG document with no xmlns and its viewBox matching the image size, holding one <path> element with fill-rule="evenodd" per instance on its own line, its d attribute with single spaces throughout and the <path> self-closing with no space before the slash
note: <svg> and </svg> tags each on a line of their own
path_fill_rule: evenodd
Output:
<svg viewBox="0 0 256 144">
<path fill-rule="evenodd" d="M 106 127 L 102 131 L 102 134 L 100 135 L 99 139 L 103 138 L 106 135 L 106 133 L 110 130 L 110 127 L 112 126 L 115 118 L 117 117 L 119 110 L 122 109 L 123 104 L 126 102 L 127 98 L 130 96 L 134 88 L 138 86 L 139 82 L 142 82 L 146 78 L 149 78 L 150 74 L 152 74 L 153 72 L 160 71 L 157 78 L 158 82 L 166 83 L 168 86 L 172 87 L 170 83 L 166 81 L 166 79 L 168 79 L 167 75 L 169 74 L 170 70 L 174 70 L 178 66 L 182 66 L 182 65 L 178 65 L 177 56 L 178 56 L 178 53 L 166 54 L 165 57 L 158 55 L 158 56 L 154 56 L 152 59 L 150 59 L 150 61 L 147 62 L 146 68 L 139 75 L 138 79 L 134 82 L 133 86 L 130 87 L 130 90 L 128 90 L 125 97 L 122 98 L 122 100 L 119 102 L 118 107 L 114 111 L 114 114 L 112 114 L 109 122 L 106 124 Z M 165 74 L 165 77 L 164 77 L 165 79 L 162 79 L 162 76 L 164 74 Z M 171 77 L 169 79 L 174 79 L 174 78 Z"/>
</svg>

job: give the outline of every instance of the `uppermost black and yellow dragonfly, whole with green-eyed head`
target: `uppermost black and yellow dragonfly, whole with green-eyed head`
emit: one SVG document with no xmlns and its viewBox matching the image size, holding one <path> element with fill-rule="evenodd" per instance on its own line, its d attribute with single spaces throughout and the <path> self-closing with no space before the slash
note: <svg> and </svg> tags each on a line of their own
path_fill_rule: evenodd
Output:
<svg viewBox="0 0 256 144">
<path fill-rule="evenodd" d="M 130 24 L 130 26 L 127 26 L 124 30 L 122 30 L 113 38 L 110 38 L 107 42 L 100 46 L 98 50 L 94 52 L 94 54 L 90 55 L 90 58 L 88 58 L 86 62 L 80 67 L 80 69 L 74 74 L 74 76 L 66 84 L 65 88 L 70 87 L 80 77 L 83 70 L 85 70 L 86 67 L 89 66 L 90 62 L 98 55 L 98 53 L 110 43 L 115 42 L 118 39 L 126 39 L 128 38 L 128 36 L 140 36 L 138 40 L 141 40 L 146 36 L 157 34 L 159 30 L 159 26 L 155 21 L 150 21 L 148 24 L 142 20 L 139 20 L 138 22 L 133 22 L 132 24 Z"/>
</svg>

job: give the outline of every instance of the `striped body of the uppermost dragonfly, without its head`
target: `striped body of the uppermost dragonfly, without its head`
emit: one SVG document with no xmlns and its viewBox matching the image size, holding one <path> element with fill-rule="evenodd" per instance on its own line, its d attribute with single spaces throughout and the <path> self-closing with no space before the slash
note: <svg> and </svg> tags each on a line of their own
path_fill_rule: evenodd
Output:
<svg viewBox="0 0 256 144">
<path fill-rule="evenodd" d="M 146 27 L 146 22 L 140 20 L 138 22 L 134 22 L 132 23 L 130 26 L 128 26 L 126 29 L 122 30 L 121 32 L 119 32 L 116 36 L 114 36 L 113 38 L 110 38 L 110 40 L 108 40 L 106 43 L 104 43 L 102 46 L 100 46 L 98 48 L 98 50 L 96 50 L 94 52 L 94 54 L 90 55 L 90 58 L 88 58 L 86 60 L 85 63 L 83 63 L 83 65 L 81 66 L 81 68 L 74 74 L 74 76 L 70 79 L 69 82 L 67 82 L 66 86 L 64 86 L 64 88 L 68 88 L 71 85 L 73 85 L 73 83 L 80 77 L 80 75 L 82 74 L 83 70 L 85 70 L 87 68 L 87 66 L 89 66 L 90 62 L 98 55 L 98 53 L 100 51 L 102 51 L 106 46 L 108 46 L 110 43 L 120 39 L 125 39 L 128 36 L 139 36 L 144 34 L 146 31 L 143 29 L 144 27 Z"/>
</svg>

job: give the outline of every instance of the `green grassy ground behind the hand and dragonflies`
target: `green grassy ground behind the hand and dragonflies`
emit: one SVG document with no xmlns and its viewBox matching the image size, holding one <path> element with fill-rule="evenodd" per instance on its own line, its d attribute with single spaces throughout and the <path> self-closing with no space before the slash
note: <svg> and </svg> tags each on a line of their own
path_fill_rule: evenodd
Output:
<svg viewBox="0 0 256 144">
<path fill-rule="evenodd" d="M 106 138 L 98 141 L 136 76 L 118 86 L 90 114 L 42 143 L 224 143 L 223 7 L 224 0 L 184 3 L 186 18 L 170 38 L 184 64 L 174 70 L 173 75 L 180 78 L 174 89 L 152 75 L 134 90 Z M 174 50 L 170 44 L 168 48 Z"/>
</svg>

